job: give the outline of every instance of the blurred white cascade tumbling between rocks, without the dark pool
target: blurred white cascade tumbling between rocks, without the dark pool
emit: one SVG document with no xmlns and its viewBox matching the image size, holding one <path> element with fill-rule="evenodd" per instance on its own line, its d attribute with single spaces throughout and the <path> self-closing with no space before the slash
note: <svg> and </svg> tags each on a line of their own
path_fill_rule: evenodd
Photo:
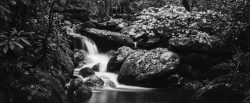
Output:
<svg viewBox="0 0 250 103">
<path fill-rule="evenodd" d="M 82 78 L 79 75 L 79 71 L 85 67 L 90 67 L 92 68 L 94 65 L 99 64 L 99 72 L 96 72 L 96 75 L 98 77 L 104 77 L 104 78 L 108 78 L 109 80 L 111 80 L 112 82 L 114 82 L 114 84 L 116 85 L 116 88 L 127 88 L 127 89 L 149 89 L 149 88 L 143 88 L 143 87 L 137 87 L 137 86 L 127 86 L 127 85 L 122 85 L 119 84 L 117 82 L 117 77 L 118 75 L 115 73 L 111 73 L 111 72 L 107 72 L 107 64 L 109 62 L 110 57 L 99 53 L 98 52 L 98 48 L 95 44 L 94 41 L 92 41 L 91 39 L 82 36 L 80 34 L 75 33 L 75 27 L 73 26 L 72 28 L 68 27 L 68 34 L 73 36 L 73 37 L 78 37 L 81 38 L 81 42 L 82 42 L 82 47 L 85 46 L 85 48 L 87 49 L 86 51 L 88 51 L 88 55 L 85 58 L 85 65 L 83 65 L 80 68 L 76 68 L 74 69 L 74 75 L 78 76 L 80 78 Z M 85 78 L 82 78 L 84 81 L 86 80 Z"/>
</svg>

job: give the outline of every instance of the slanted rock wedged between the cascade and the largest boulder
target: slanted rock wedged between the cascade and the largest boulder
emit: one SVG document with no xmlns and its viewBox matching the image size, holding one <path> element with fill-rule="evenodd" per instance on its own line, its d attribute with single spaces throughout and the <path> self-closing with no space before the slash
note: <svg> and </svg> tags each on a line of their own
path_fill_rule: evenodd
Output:
<svg viewBox="0 0 250 103">
<path fill-rule="evenodd" d="M 130 47 L 120 47 L 118 50 L 111 55 L 111 58 L 108 62 L 108 71 L 120 71 L 122 67 L 122 63 L 126 57 L 128 57 L 132 52 L 135 50 L 131 49 Z"/>
</svg>

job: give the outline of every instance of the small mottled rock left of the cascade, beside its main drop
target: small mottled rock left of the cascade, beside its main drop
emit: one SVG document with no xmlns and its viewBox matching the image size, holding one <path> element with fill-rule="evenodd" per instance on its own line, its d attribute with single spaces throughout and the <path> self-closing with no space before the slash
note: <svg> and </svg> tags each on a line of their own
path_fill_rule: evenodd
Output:
<svg viewBox="0 0 250 103">
<path fill-rule="evenodd" d="M 79 66 L 81 61 L 84 61 L 87 52 L 85 50 L 76 50 L 74 53 L 74 64 L 75 66 Z"/>
</svg>

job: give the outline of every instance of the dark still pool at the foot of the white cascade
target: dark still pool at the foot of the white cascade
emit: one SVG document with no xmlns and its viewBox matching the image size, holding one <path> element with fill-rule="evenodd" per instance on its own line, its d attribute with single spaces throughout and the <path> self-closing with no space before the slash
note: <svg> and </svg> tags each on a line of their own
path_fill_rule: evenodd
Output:
<svg viewBox="0 0 250 103">
<path fill-rule="evenodd" d="M 178 89 L 99 89 L 86 103 L 193 103 L 191 98 L 191 92 Z"/>
</svg>

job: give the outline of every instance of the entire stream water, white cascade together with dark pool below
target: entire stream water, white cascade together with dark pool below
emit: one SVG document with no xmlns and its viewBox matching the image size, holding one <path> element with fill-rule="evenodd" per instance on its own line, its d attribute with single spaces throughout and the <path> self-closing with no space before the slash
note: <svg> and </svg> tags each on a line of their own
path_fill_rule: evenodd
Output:
<svg viewBox="0 0 250 103">
<path fill-rule="evenodd" d="M 73 37 L 81 38 L 82 47 L 88 51 L 85 63 L 86 65 L 74 70 L 74 75 L 82 78 L 79 71 L 82 68 L 99 64 L 99 72 L 95 74 L 111 80 L 116 85 L 115 88 L 93 89 L 93 96 L 87 103 L 191 103 L 191 94 L 182 90 L 159 90 L 154 88 L 144 88 L 137 86 L 128 86 L 120 84 L 117 81 L 118 75 L 107 72 L 109 56 L 99 53 L 98 48 L 91 39 L 75 33 L 74 28 L 68 28 L 68 34 Z M 83 48 L 83 49 L 84 49 Z M 84 81 L 86 78 L 82 78 Z"/>
</svg>

